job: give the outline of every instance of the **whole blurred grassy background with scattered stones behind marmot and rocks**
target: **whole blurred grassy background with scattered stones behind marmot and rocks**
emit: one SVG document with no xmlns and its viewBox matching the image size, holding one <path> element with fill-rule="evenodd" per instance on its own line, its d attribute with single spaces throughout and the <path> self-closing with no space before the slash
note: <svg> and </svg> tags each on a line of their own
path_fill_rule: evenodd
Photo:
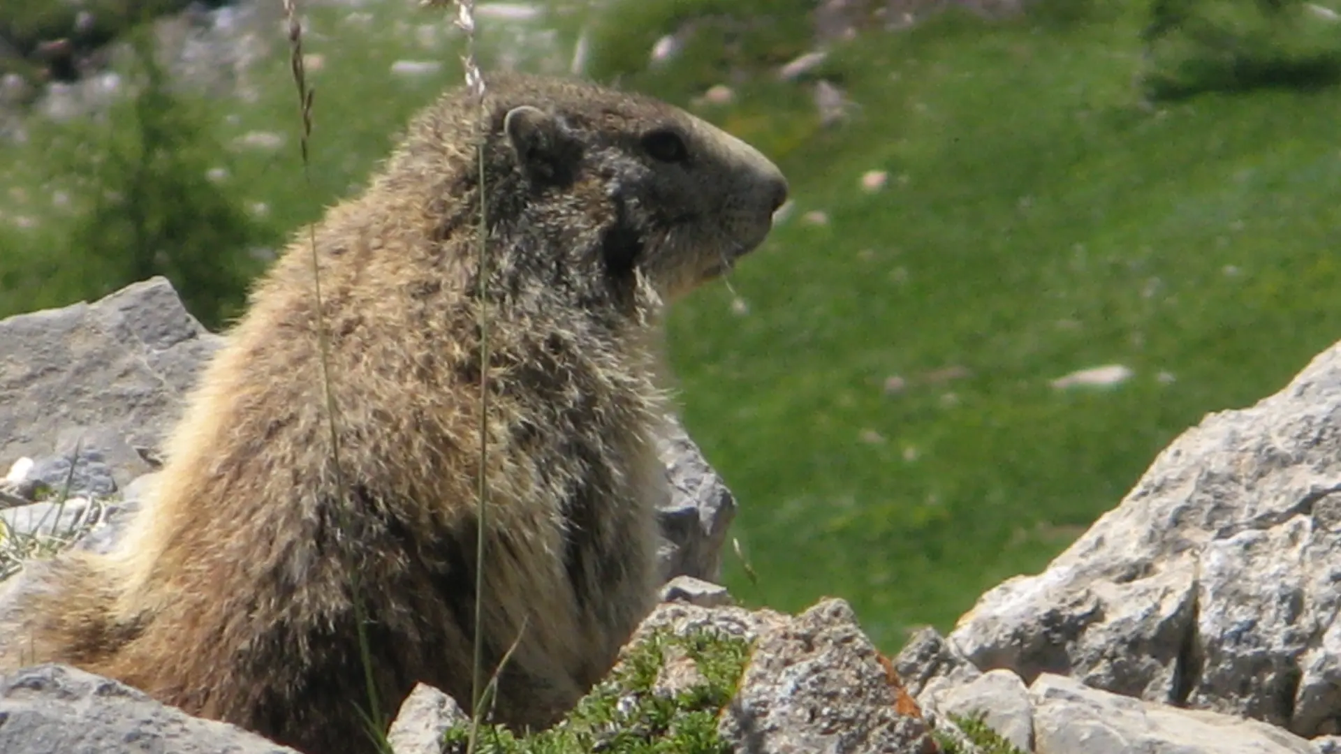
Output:
<svg viewBox="0 0 1341 754">
<path fill-rule="evenodd" d="M 0 0 L 0 317 L 166 275 L 212 329 L 461 80 L 451 9 Z M 645 91 L 793 201 L 670 319 L 746 604 L 886 651 L 1039 570 L 1341 339 L 1337 0 L 480 3 L 485 70 Z M 748 563 L 748 565 L 747 565 Z"/>
</svg>

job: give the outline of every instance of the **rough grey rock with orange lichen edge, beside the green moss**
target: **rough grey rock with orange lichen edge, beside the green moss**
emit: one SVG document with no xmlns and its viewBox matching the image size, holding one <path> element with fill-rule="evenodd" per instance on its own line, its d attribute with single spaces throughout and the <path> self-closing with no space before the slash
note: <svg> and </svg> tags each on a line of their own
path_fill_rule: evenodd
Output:
<svg viewBox="0 0 1341 754">
<path fill-rule="evenodd" d="M 842 600 L 791 617 L 772 610 L 662 602 L 634 633 L 716 631 L 755 643 L 717 733 L 735 751 L 843 754 L 936 751 L 924 719 L 900 714 L 902 688 Z"/>
</svg>

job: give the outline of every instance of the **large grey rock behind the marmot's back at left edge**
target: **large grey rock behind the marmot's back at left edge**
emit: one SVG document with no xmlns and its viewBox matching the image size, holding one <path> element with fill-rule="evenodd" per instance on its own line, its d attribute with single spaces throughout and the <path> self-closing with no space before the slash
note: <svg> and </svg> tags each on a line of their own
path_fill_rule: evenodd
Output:
<svg viewBox="0 0 1341 754">
<path fill-rule="evenodd" d="M 157 447 L 217 345 L 164 278 L 0 321 L 0 466 L 78 441 L 129 483 L 150 471 L 135 448 Z"/>
</svg>

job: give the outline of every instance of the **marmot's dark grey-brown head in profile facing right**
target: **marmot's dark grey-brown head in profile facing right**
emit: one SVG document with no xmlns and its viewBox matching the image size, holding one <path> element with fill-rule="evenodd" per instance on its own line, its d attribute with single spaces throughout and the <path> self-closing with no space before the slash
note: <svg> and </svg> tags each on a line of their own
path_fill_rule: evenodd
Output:
<svg viewBox="0 0 1341 754">
<path fill-rule="evenodd" d="M 471 199 L 434 235 L 475 225 L 484 126 L 491 246 L 507 247 L 495 254 L 499 295 L 539 274 L 586 303 L 656 307 L 758 247 L 787 197 L 767 157 L 664 102 L 518 74 L 485 82 L 483 106 L 456 91 L 426 111 L 389 173 L 413 165 L 428 178 L 436 164 L 436 205 L 451 204 L 443 193 Z"/>
</svg>

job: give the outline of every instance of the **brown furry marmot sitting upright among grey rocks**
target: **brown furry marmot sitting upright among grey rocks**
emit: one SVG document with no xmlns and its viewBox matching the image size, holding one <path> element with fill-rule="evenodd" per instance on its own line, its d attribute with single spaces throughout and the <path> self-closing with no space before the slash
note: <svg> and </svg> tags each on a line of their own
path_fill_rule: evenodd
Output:
<svg viewBox="0 0 1341 754">
<path fill-rule="evenodd" d="M 416 682 L 468 710 L 485 307 L 479 639 L 485 672 L 516 643 L 495 719 L 552 724 L 654 604 L 664 306 L 759 246 L 786 195 L 758 150 L 652 98 L 516 74 L 487 76 L 483 109 L 443 95 L 315 225 L 322 311 L 304 229 L 202 372 L 154 506 L 110 555 L 50 562 L 0 669 L 68 663 L 366 753 L 362 614 L 384 711 Z"/>
</svg>

